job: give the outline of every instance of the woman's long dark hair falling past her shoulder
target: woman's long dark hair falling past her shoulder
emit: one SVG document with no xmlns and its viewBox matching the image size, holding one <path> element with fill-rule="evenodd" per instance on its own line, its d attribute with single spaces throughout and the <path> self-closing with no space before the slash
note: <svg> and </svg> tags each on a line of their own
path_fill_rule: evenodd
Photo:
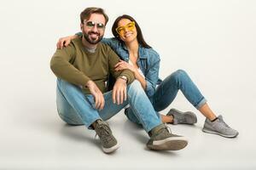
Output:
<svg viewBox="0 0 256 170">
<path fill-rule="evenodd" d="M 140 28 L 140 26 L 138 26 L 137 24 L 137 21 L 134 20 L 130 15 L 127 15 L 127 14 L 123 14 L 121 16 L 119 16 L 116 20 L 114 20 L 113 22 L 113 26 L 112 26 L 112 33 L 113 33 L 113 36 L 116 37 L 119 41 L 122 41 L 120 38 L 119 38 L 119 34 L 117 33 L 117 31 L 115 31 L 115 29 L 118 27 L 118 24 L 119 24 L 119 20 L 122 20 L 122 19 L 128 19 L 128 20 L 131 20 L 131 21 L 134 21 L 135 22 L 135 26 L 136 26 L 136 29 L 137 29 L 137 42 L 143 46 L 143 48 L 151 48 L 147 42 L 145 42 L 144 38 L 143 38 L 143 32 Z"/>
</svg>

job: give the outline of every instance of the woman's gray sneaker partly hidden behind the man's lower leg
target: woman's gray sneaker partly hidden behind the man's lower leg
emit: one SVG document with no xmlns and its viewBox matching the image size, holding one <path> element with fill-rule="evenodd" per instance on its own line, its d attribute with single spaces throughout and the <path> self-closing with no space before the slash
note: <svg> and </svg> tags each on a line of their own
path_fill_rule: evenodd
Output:
<svg viewBox="0 0 256 170">
<path fill-rule="evenodd" d="M 191 111 L 177 111 L 176 109 L 171 109 L 166 116 L 172 116 L 173 122 L 172 124 L 189 124 L 193 125 L 197 122 L 197 118 L 195 116 L 195 113 Z"/>
</svg>

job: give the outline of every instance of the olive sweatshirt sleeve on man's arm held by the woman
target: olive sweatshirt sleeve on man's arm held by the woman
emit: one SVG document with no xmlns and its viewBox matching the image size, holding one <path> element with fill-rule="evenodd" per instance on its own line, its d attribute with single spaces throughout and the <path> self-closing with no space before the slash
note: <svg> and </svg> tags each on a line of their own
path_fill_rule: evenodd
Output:
<svg viewBox="0 0 256 170">
<path fill-rule="evenodd" d="M 108 57 L 108 64 L 110 66 L 110 73 L 113 75 L 114 78 L 125 76 L 127 77 L 127 83 L 130 84 L 134 80 L 134 75 L 132 71 L 125 69 L 124 71 L 114 71 L 114 65 L 119 62 L 119 56 L 113 52 L 111 48 L 109 48 L 109 57 Z"/>
</svg>

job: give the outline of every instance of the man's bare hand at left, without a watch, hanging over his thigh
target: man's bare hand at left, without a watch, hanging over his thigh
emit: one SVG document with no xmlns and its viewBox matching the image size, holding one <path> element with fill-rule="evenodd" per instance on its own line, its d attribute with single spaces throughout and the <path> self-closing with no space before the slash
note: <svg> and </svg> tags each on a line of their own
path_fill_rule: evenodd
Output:
<svg viewBox="0 0 256 170">
<path fill-rule="evenodd" d="M 105 105 L 105 99 L 102 91 L 96 86 L 96 83 L 91 80 L 87 82 L 86 86 L 89 88 L 90 94 L 94 97 L 96 109 L 101 111 Z"/>
</svg>

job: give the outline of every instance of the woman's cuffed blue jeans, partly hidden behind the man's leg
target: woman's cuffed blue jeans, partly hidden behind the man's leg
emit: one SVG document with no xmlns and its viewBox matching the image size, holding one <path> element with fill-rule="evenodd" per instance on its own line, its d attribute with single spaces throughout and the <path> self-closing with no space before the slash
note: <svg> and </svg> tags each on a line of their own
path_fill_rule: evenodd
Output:
<svg viewBox="0 0 256 170">
<path fill-rule="evenodd" d="M 177 96 L 179 89 L 196 109 L 201 108 L 202 105 L 207 103 L 207 99 L 204 98 L 189 75 L 183 70 L 177 70 L 169 77 L 166 77 L 156 88 L 153 98 L 151 99 L 154 110 L 163 111 L 166 109 Z M 125 115 L 131 122 L 141 124 L 130 108 L 125 111 Z"/>
</svg>

